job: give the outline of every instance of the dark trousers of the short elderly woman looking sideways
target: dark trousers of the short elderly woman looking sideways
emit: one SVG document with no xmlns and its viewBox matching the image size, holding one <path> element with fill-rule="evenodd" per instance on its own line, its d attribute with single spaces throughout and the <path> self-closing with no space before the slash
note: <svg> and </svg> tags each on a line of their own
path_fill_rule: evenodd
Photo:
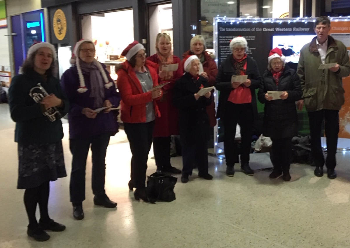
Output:
<svg viewBox="0 0 350 248">
<path fill-rule="evenodd" d="M 197 135 L 188 131 L 180 131 L 183 174 L 192 175 L 195 163 L 199 174 L 204 175 L 208 173 L 207 129 L 204 128 L 201 130 L 203 132 L 196 132 Z"/>
</svg>

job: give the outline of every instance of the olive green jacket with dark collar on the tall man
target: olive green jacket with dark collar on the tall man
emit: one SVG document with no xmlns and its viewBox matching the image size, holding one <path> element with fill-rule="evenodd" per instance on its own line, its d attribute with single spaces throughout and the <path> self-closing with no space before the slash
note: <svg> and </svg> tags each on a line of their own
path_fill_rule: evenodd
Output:
<svg viewBox="0 0 350 248">
<path fill-rule="evenodd" d="M 335 73 L 329 69 L 318 69 L 322 62 L 316 37 L 300 50 L 297 74 L 301 80 L 302 98 L 307 111 L 339 110 L 344 104 L 342 77 L 350 74 L 349 55 L 341 41 L 328 36 L 325 63 L 335 62 L 340 66 Z"/>
</svg>

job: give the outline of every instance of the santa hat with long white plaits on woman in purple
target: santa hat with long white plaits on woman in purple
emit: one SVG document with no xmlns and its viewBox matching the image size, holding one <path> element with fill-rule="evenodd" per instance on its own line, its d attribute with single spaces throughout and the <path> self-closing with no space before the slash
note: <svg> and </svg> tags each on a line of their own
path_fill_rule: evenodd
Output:
<svg viewBox="0 0 350 248">
<path fill-rule="evenodd" d="M 78 76 L 79 76 L 79 88 L 77 89 L 77 91 L 79 93 L 84 93 L 87 91 L 87 88 L 86 88 L 86 85 L 85 85 L 85 80 L 84 80 L 84 76 L 83 76 L 83 73 L 82 73 L 82 69 L 80 68 L 80 60 L 77 59 L 79 57 L 79 47 L 81 44 L 83 44 L 84 42 L 90 42 L 91 44 L 93 44 L 95 46 L 95 44 L 92 42 L 92 40 L 88 40 L 88 39 L 81 39 L 79 40 L 74 48 L 73 48 L 73 55 L 72 55 L 72 58 L 70 59 L 70 63 L 71 64 L 76 64 L 77 66 L 77 70 L 78 70 Z M 102 65 L 100 62 L 98 62 L 96 60 L 96 58 L 94 59 L 93 63 L 98 67 L 98 70 L 100 71 L 102 77 L 103 77 L 103 80 L 105 81 L 105 88 L 106 89 L 109 89 L 112 85 L 113 85 L 113 82 L 110 82 L 107 75 L 106 75 L 106 72 L 105 72 L 105 69 L 103 69 Z"/>
</svg>

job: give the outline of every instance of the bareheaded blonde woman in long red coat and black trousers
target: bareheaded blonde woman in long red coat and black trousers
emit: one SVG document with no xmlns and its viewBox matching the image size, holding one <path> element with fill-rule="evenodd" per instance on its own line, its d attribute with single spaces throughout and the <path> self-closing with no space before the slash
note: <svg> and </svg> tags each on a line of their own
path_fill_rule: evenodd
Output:
<svg viewBox="0 0 350 248">
<path fill-rule="evenodd" d="M 156 37 L 155 48 L 157 53 L 146 60 L 152 61 L 159 65 L 158 83 L 166 83 L 163 90 L 163 97 L 157 101 L 161 117 L 155 119 L 153 132 L 153 152 L 157 170 L 181 173 L 181 170 L 170 164 L 170 136 L 179 135 L 179 110 L 172 103 L 172 89 L 175 82 L 183 75 L 181 60 L 172 53 L 172 43 L 170 36 L 166 33 L 159 33 Z M 177 70 L 163 70 L 163 65 L 179 64 Z"/>
</svg>

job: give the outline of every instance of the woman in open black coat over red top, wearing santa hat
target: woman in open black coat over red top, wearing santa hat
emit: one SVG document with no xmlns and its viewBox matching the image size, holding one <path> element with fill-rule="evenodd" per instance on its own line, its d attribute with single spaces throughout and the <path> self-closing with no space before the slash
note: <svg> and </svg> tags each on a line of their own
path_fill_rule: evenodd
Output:
<svg viewBox="0 0 350 248">
<path fill-rule="evenodd" d="M 257 63 L 245 52 L 247 41 L 236 37 L 230 42 L 232 56 L 226 58 L 219 67 L 215 88 L 220 91 L 217 118 L 224 122 L 224 152 L 226 175 L 235 175 L 234 165 L 238 163 L 238 147 L 235 142 L 237 123 L 241 128 L 240 156 L 241 169 L 247 175 L 254 175 L 249 166 L 249 154 L 253 136 L 253 125 L 258 119 L 255 89 L 259 88 L 260 74 Z M 246 82 L 231 82 L 232 75 L 247 75 Z"/>
</svg>

